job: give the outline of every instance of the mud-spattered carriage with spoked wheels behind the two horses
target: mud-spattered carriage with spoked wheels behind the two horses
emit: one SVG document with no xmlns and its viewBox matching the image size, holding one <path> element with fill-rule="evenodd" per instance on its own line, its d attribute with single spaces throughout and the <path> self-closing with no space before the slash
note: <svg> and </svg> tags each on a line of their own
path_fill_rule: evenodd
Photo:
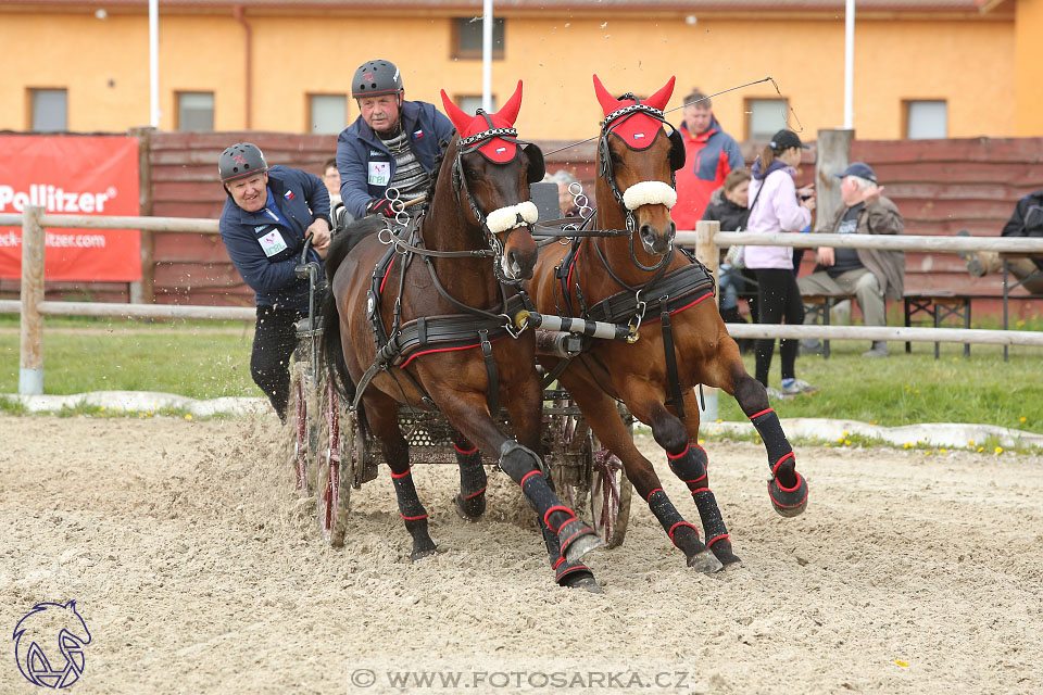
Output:
<svg viewBox="0 0 1043 695">
<path fill-rule="evenodd" d="M 343 207 L 334 211 L 334 233 L 345 226 L 343 212 Z M 554 224 L 567 232 L 576 222 Z M 315 495 L 323 538 L 339 546 L 347 531 L 352 489 L 375 480 L 379 466 L 387 462 L 373 437 L 360 427 L 357 414 L 319 369 L 317 345 L 324 328 L 319 306 L 326 283 L 318 264 L 305 258 L 306 248 L 297 273 L 309 280 L 309 316 L 297 324 L 286 431 L 298 491 Z M 537 340 L 545 350 L 565 354 L 578 349 L 568 337 L 564 331 L 539 331 Z M 633 418 L 625 406 L 620 406 L 620 415 L 628 427 L 632 426 Z M 500 410 L 498 419 L 506 431 L 511 430 L 505 410 Z M 399 425 L 414 464 L 456 465 L 452 428 L 437 410 L 403 405 Z M 551 479 L 560 494 L 590 522 L 607 547 L 620 545 L 627 533 L 632 485 L 619 458 L 601 446 L 568 392 L 553 383 L 543 390 L 542 440 Z M 488 457 L 483 463 L 495 464 Z"/>
</svg>

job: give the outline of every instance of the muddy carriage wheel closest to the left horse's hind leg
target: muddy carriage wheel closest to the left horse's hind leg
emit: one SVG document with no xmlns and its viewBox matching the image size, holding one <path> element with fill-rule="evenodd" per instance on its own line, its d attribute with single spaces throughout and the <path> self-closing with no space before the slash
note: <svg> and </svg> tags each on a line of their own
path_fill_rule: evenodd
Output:
<svg viewBox="0 0 1043 695">
<path fill-rule="evenodd" d="M 343 407 L 336 387 L 323 380 L 319 405 L 317 497 L 318 528 L 332 546 L 344 543 L 351 483 L 354 478 L 355 418 Z"/>
</svg>

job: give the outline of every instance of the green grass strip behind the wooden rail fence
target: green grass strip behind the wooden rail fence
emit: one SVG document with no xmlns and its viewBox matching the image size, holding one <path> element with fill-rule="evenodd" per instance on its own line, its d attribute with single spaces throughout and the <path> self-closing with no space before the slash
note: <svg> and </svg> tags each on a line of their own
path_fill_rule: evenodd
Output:
<svg viewBox="0 0 1043 695">
<path fill-rule="evenodd" d="M 1033 321 L 1034 323 L 1034 321 Z M 17 317 L 0 317 L 0 393 L 18 387 Z M 1025 328 L 1028 328 L 1026 326 Z M 45 320 L 43 388 L 51 394 L 163 391 L 196 399 L 261 396 L 250 378 L 252 325 L 243 321 Z M 891 356 L 866 359 L 865 341 L 833 341 L 829 359 L 797 358 L 797 377 L 821 387 L 810 396 L 774 403 L 781 417 L 826 417 L 895 427 L 917 422 L 996 425 L 1043 433 L 1043 350 L 891 343 Z M 746 356 L 753 374 L 753 357 Z M 779 383 L 776 351 L 770 383 Z M 13 402 L 0 409 L 17 412 Z M 724 420 L 745 416 L 721 393 Z"/>
</svg>

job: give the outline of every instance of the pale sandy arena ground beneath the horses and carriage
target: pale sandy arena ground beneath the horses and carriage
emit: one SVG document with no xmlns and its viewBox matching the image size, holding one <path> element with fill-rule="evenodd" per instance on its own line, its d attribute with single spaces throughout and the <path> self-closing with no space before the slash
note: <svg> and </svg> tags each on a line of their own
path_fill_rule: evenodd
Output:
<svg viewBox="0 0 1043 695">
<path fill-rule="evenodd" d="M 80 695 L 1043 692 L 1043 457 L 799 447 L 782 519 L 764 450 L 709 443 L 743 566 L 688 570 L 634 500 L 592 595 L 553 584 L 503 475 L 467 525 L 455 467 L 418 466 L 444 552 L 411 564 L 382 469 L 330 549 L 276 422 L 0 416 L 0 628 L 76 599 Z M 0 693 L 39 692 L 8 644 Z"/>
</svg>

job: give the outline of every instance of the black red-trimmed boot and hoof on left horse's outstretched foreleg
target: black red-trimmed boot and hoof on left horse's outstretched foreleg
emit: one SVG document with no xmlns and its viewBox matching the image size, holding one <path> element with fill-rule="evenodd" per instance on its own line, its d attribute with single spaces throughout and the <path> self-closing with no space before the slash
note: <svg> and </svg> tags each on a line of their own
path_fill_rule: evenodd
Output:
<svg viewBox="0 0 1043 695">
<path fill-rule="evenodd" d="M 500 446 L 500 469 L 518 483 L 543 525 L 557 534 L 565 559 L 577 563 L 604 543 L 593 529 L 561 503 L 540 470 L 542 463 L 536 452 L 514 440 L 508 439 Z"/>
</svg>

